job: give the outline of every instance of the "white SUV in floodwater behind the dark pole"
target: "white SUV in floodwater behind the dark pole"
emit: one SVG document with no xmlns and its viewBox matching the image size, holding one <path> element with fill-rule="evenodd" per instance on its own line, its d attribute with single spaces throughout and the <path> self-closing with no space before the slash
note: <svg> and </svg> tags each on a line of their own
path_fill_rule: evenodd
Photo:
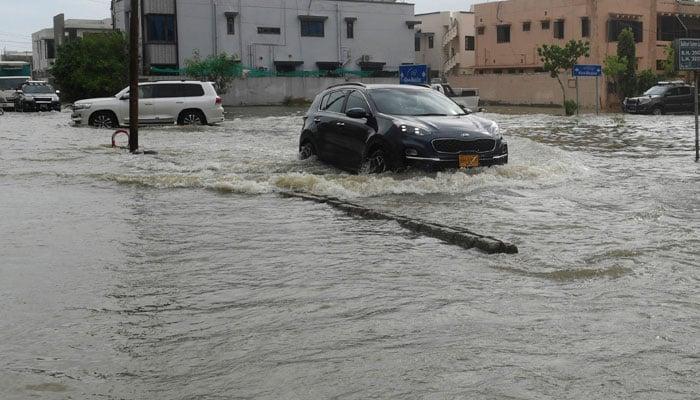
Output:
<svg viewBox="0 0 700 400">
<path fill-rule="evenodd" d="M 129 125 L 129 88 L 114 97 L 79 100 L 71 119 L 98 128 Z M 160 81 L 139 83 L 139 125 L 204 125 L 223 122 L 221 97 L 211 82 Z"/>
</svg>

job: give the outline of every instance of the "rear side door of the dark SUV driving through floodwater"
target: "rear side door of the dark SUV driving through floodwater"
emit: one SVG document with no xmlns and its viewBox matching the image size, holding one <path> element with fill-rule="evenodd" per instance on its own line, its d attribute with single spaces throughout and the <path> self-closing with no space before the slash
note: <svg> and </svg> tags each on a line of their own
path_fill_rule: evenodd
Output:
<svg viewBox="0 0 700 400">
<path fill-rule="evenodd" d="M 337 90 L 331 92 L 328 99 L 321 104 L 316 119 L 319 133 L 319 146 L 322 158 L 334 164 L 345 165 L 347 160 L 343 158 L 343 109 L 347 91 Z"/>
</svg>

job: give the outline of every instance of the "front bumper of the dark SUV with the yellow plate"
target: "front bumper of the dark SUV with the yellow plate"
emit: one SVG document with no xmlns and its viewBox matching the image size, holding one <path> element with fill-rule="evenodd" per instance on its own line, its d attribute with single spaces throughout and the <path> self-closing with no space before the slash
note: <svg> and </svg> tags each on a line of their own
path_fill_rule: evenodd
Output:
<svg viewBox="0 0 700 400">
<path fill-rule="evenodd" d="M 508 163 L 508 143 L 503 140 L 497 142 L 496 148 L 493 151 L 487 152 L 463 152 L 463 153 L 439 153 L 424 149 L 418 151 L 417 155 L 408 154 L 409 149 L 404 150 L 405 163 L 408 166 L 449 169 L 460 168 L 459 158 L 461 154 L 478 155 L 479 167 L 488 167 L 492 165 L 504 165 Z"/>
</svg>

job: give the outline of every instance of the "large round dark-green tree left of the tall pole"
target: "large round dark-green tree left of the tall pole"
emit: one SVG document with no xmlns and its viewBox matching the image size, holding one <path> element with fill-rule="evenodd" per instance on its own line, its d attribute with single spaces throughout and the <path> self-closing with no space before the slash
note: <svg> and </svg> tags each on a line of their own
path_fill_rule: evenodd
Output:
<svg viewBox="0 0 700 400">
<path fill-rule="evenodd" d="M 113 96 L 129 82 L 128 60 L 124 34 L 86 35 L 58 48 L 51 74 L 64 100 Z"/>
</svg>

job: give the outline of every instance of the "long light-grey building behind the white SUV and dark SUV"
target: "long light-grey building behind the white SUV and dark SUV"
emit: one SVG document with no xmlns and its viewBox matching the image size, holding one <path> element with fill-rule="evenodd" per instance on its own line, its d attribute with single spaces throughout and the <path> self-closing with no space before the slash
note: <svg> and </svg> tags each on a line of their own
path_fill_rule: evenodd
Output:
<svg viewBox="0 0 700 400">
<path fill-rule="evenodd" d="M 237 55 L 270 71 L 398 70 L 413 63 L 413 4 L 396 0 L 141 0 L 144 72 Z M 112 0 L 128 29 L 129 0 Z"/>
</svg>

